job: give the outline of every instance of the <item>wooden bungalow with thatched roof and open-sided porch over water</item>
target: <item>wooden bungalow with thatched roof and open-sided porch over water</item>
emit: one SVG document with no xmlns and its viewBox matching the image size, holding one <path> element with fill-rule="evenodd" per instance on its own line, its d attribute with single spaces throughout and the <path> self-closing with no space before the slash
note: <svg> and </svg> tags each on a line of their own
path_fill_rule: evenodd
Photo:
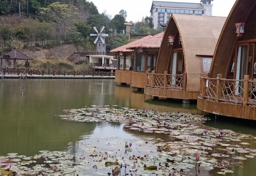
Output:
<svg viewBox="0 0 256 176">
<path fill-rule="evenodd" d="M 148 35 L 111 50 L 110 52 L 115 53 L 118 58 L 117 67 L 119 70 L 116 70 L 116 82 L 144 88 L 147 85 L 146 72 L 151 72 L 156 68 L 162 39 L 163 32 L 154 36 Z M 122 66 L 120 63 L 123 63 L 124 66 L 120 67 Z"/>
</svg>

